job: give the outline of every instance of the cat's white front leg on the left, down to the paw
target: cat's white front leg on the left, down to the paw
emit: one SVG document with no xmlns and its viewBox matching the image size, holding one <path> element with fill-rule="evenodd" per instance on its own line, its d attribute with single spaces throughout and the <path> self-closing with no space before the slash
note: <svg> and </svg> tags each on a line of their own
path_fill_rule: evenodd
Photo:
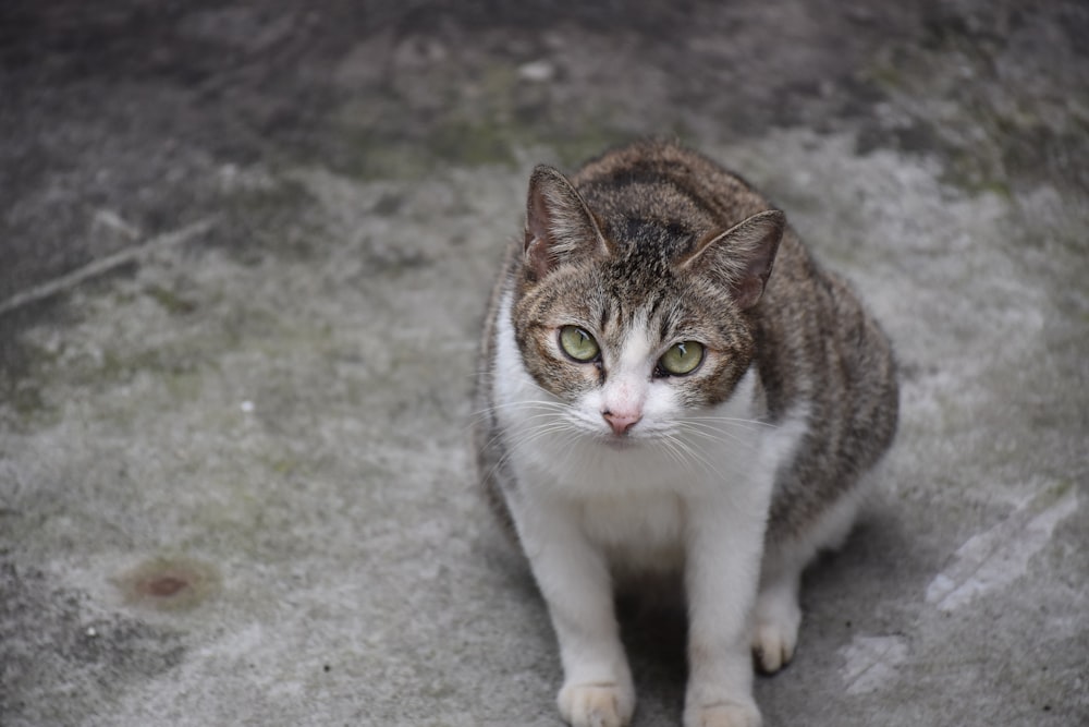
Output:
<svg viewBox="0 0 1089 727">
<path fill-rule="evenodd" d="M 570 502 L 538 500 L 514 511 L 560 644 L 560 714 L 573 727 L 627 725 L 635 712 L 635 687 L 604 556 L 587 540 Z"/>
</svg>

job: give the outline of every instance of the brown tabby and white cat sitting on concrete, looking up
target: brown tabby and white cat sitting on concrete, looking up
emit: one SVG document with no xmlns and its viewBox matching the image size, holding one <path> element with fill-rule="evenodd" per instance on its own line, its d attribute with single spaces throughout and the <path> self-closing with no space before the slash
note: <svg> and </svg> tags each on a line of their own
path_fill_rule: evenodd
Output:
<svg viewBox="0 0 1089 727">
<path fill-rule="evenodd" d="M 614 591 L 680 573 L 685 727 L 754 727 L 798 585 L 846 537 L 896 431 L 890 342 L 784 214 L 680 144 L 529 180 L 480 352 L 489 499 L 555 631 L 562 717 L 631 722 Z"/>
</svg>

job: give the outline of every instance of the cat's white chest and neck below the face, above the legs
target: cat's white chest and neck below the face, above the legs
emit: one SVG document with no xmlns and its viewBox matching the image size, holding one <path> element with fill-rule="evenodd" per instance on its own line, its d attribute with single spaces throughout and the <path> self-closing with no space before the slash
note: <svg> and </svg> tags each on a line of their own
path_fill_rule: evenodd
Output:
<svg viewBox="0 0 1089 727">
<path fill-rule="evenodd" d="M 648 404 L 638 427 L 657 427 L 657 437 L 610 440 L 592 405 L 561 401 L 530 377 L 510 304 L 507 295 L 492 386 L 514 475 L 511 508 L 527 552 L 585 537 L 617 570 L 674 570 L 685 562 L 693 523 L 708 520 L 701 513 L 723 513 L 715 528 L 726 531 L 738 525 L 734 519 L 762 526 L 773 473 L 799 433 L 760 423 L 755 369 L 726 401 L 692 420 L 676 407 Z"/>
</svg>

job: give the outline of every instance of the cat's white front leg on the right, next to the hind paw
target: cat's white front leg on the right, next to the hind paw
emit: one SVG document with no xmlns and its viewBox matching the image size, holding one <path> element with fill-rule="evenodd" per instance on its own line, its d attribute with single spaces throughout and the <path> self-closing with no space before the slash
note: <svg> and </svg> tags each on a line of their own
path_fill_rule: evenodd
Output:
<svg viewBox="0 0 1089 727">
<path fill-rule="evenodd" d="M 736 505 L 736 500 L 731 506 Z M 700 504 L 689 513 L 685 581 L 689 677 L 684 727 L 759 727 L 750 614 L 763 543 L 758 504 Z"/>
</svg>

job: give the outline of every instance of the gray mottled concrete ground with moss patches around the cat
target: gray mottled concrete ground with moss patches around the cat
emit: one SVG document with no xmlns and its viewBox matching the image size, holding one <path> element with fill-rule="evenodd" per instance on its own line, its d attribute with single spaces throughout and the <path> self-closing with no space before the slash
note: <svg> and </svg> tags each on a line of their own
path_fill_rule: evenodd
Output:
<svg viewBox="0 0 1089 727">
<path fill-rule="evenodd" d="M 0 4 L 4 727 L 558 725 L 474 349 L 531 166 L 640 134 L 903 364 L 767 723 L 1089 724 L 1084 2 L 98 5 Z M 683 623 L 626 627 L 677 724 Z"/>
</svg>

